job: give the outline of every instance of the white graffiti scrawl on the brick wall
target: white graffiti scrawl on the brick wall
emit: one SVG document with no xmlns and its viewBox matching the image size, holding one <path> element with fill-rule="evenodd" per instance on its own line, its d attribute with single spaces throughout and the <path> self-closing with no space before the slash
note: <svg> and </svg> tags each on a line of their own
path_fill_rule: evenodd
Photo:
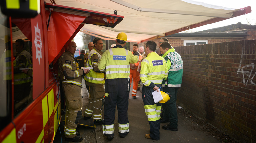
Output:
<svg viewBox="0 0 256 143">
<path fill-rule="evenodd" d="M 248 83 L 249 80 L 250 80 L 250 83 L 251 83 L 251 84 L 256 85 L 256 84 L 252 81 L 252 79 L 253 79 L 254 76 L 256 75 L 256 71 L 255 71 L 255 73 L 253 74 L 253 70 L 254 70 L 255 64 L 254 64 L 254 63 L 251 63 L 251 64 L 249 64 L 249 65 L 246 65 L 246 66 L 241 67 L 241 66 L 242 66 L 242 58 L 243 58 L 243 48 L 242 48 L 242 54 L 241 54 L 241 59 L 240 59 L 240 65 L 239 65 L 238 70 L 236 71 L 237 74 L 243 73 L 243 83 L 244 83 L 245 86 L 247 86 L 247 83 Z M 248 67 L 251 67 L 251 69 L 247 69 Z M 249 70 L 249 71 L 245 71 L 245 70 Z M 246 75 L 246 76 L 245 76 L 245 75 Z M 248 77 L 248 79 L 247 79 L 247 81 L 246 81 L 246 83 L 245 83 L 245 78 L 247 78 L 247 77 Z"/>
</svg>

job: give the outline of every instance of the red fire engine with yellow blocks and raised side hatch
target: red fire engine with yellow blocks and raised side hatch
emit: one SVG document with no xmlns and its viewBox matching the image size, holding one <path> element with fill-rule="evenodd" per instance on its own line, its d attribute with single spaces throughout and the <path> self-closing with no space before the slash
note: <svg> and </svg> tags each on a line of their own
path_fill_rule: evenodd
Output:
<svg viewBox="0 0 256 143">
<path fill-rule="evenodd" d="M 0 4 L 0 142 L 53 142 L 61 118 L 58 58 L 84 24 L 115 27 L 123 16 L 43 0 Z M 32 54 L 31 94 L 15 84 L 20 82 L 14 79 L 17 39 L 24 40 L 25 50 Z"/>
</svg>

